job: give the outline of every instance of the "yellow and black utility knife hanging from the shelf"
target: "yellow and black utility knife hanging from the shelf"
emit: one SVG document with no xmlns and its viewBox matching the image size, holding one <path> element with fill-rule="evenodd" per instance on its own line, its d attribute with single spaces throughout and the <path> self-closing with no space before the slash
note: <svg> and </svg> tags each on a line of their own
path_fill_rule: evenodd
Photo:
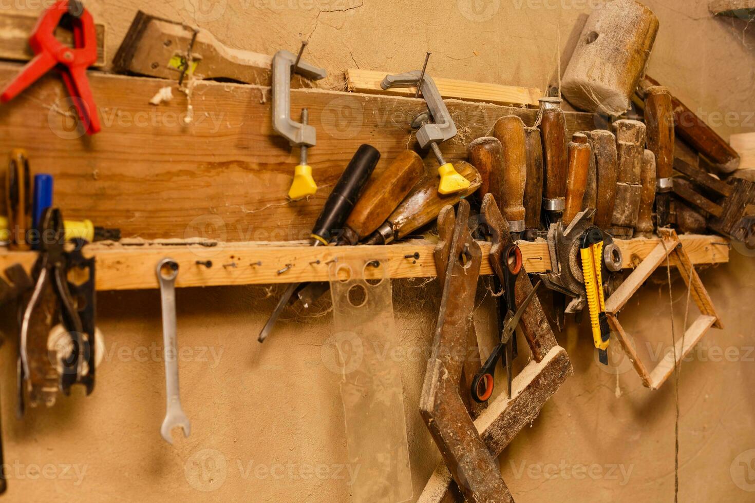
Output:
<svg viewBox="0 0 755 503">
<path fill-rule="evenodd" d="M 590 227 L 581 238 L 579 250 L 582 259 L 584 289 L 587 292 L 587 306 L 590 308 L 590 324 L 593 327 L 593 342 L 598 349 L 599 360 L 609 364 L 608 347 L 611 338 L 606 299 L 603 294 L 603 232 Z"/>
</svg>

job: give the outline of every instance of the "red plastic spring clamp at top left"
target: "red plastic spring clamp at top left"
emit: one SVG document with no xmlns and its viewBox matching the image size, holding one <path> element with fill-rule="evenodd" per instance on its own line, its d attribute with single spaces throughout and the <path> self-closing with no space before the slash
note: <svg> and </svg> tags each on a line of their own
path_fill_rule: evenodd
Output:
<svg viewBox="0 0 755 503">
<path fill-rule="evenodd" d="M 73 48 L 55 38 L 55 29 L 65 14 L 72 16 Z M 29 37 L 29 45 L 36 56 L 5 87 L 0 101 L 6 103 L 14 99 L 26 87 L 58 66 L 87 133 L 99 132 L 100 118 L 97 117 L 97 105 L 87 79 L 88 67 L 97 62 L 97 31 L 91 14 L 79 2 L 60 0 L 39 18 Z"/>
</svg>

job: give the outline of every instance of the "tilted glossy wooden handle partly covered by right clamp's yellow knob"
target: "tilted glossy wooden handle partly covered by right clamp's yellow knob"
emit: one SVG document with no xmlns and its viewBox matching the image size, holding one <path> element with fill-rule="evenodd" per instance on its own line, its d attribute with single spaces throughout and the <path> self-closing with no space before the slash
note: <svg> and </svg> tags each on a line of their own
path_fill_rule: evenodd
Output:
<svg viewBox="0 0 755 503">
<path fill-rule="evenodd" d="M 470 181 L 469 188 L 455 194 L 440 195 L 437 174 L 425 176 L 365 244 L 389 244 L 401 239 L 436 219 L 444 206 L 457 204 L 461 198 L 476 192 L 482 184 L 482 179 L 475 167 L 464 161 L 454 165 L 458 173 Z"/>
</svg>

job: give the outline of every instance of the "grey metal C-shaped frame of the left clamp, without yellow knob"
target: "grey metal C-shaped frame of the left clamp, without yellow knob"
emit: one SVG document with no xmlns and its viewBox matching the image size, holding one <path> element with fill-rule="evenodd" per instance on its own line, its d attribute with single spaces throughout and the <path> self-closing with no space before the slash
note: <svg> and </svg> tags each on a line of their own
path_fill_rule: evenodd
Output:
<svg viewBox="0 0 755 503">
<path fill-rule="evenodd" d="M 291 119 L 291 67 L 296 63 L 296 54 L 278 51 L 273 56 L 273 129 L 291 146 L 315 146 L 317 133 L 313 126 Z M 316 81 L 328 76 L 325 69 L 299 61 L 296 72 Z"/>
</svg>

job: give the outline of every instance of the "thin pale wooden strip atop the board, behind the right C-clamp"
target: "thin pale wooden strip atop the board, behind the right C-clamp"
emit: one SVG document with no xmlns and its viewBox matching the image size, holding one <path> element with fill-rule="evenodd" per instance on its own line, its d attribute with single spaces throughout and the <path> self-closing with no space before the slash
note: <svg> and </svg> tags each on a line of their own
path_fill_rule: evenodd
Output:
<svg viewBox="0 0 755 503">
<path fill-rule="evenodd" d="M 347 89 L 356 93 L 414 97 L 415 87 L 384 90 L 380 84 L 386 75 L 393 74 L 374 70 L 348 69 L 346 71 Z M 541 90 L 537 88 L 461 81 L 435 75 L 433 75 L 433 80 L 444 100 L 453 98 L 504 106 L 538 108 L 540 106 L 538 98 L 543 96 Z"/>
</svg>

